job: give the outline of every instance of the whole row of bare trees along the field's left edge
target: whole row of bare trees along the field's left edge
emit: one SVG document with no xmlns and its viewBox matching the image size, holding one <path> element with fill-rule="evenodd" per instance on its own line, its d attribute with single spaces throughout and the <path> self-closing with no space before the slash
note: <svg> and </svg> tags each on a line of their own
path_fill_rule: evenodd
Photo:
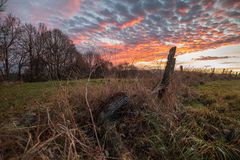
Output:
<svg viewBox="0 0 240 160">
<path fill-rule="evenodd" d="M 21 24 L 12 15 L 0 19 L 0 80 L 63 80 L 103 77 L 112 64 L 99 54 L 77 51 L 59 29 Z"/>
</svg>

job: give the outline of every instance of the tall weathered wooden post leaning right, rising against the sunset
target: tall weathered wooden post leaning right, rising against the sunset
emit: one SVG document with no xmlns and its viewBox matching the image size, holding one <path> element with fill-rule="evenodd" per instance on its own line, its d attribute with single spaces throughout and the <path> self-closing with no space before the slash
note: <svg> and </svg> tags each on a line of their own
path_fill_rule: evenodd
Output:
<svg viewBox="0 0 240 160">
<path fill-rule="evenodd" d="M 157 85 L 157 87 L 155 88 L 158 91 L 159 99 L 161 99 L 165 95 L 167 88 L 171 82 L 175 63 L 176 63 L 176 59 L 174 58 L 175 53 L 176 53 L 176 47 L 172 47 L 168 54 L 167 64 L 166 64 L 166 67 L 165 67 L 165 70 L 163 73 L 163 78 L 162 78 L 160 84 Z"/>
</svg>

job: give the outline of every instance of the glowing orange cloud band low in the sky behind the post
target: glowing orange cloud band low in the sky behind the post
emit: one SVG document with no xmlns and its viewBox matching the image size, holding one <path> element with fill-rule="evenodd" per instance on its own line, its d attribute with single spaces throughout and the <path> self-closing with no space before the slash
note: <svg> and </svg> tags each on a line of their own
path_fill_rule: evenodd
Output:
<svg viewBox="0 0 240 160">
<path fill-rule="evenodd" d="M 220 40 L 218 36 L 223 36 L 221 33 L 214 31 L 213 35 L 208 35 L 207 31 L 200 31 L 198 37 L 193 40 L 189 40 L 188 36 L 182 36 L 178 38 L 178 42 L 181 44 L 163 44 L 157 39 L 150 38 L 146 40 L 147 43 L 140 43 L 137 45 L 126 44 L 123 46 L 115 46 L 115 45 L 103 45 L 102 47 L 116 49 L 116 54 L 114 56 L 109 57 L 108 60 L 112 61 L 113 64 L 120 63 L 136 63 L 136 62 L 152 62 L 156 60 L 165 59 L 167 57 L 168 51 L 174 45 L 177 46 L 177 55 L 202 51 L 211 48 L 217 48 L 225 45 L 235 44 L 236 42 L 221 42 L 217 43 L 216 41 Z M 207 39 L 201 39 L 202 36 L 206 36 Z M 208 36 L 208 37 L 207 37 Z M 166 38 L 167 39 L 167 38 Z M 169 37 L 166 42 L 171 42 L 173 39 Z M 213 43 L 215 41 L 216 43 Z M 106 57 L 106 54 L 104 55 Z"/>
</svg>

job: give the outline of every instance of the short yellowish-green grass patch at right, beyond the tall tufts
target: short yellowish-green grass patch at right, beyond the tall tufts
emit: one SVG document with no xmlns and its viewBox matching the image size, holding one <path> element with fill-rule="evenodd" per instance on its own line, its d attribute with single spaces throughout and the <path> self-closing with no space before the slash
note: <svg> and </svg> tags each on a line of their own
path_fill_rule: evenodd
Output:
<svg viewBox="0 0 240 160">
<path fill-rule="evenodd" d="M 207 107 L 220 115 L 240 120 L 240 81 L 213 81 L 193 87 L 202 103 L 193 101 L 193 107 Z"/>
</svg>

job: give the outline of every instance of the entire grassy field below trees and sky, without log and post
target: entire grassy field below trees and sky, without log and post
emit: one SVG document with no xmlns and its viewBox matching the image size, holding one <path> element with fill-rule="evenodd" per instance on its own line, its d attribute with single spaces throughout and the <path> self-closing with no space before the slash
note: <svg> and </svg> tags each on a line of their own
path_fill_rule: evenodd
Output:
<svg viewBox="0 0 240 160">
<path fill-rule="evenodd" d="M 239 80 L 175 89 L 171 94 L 176 96 L 162 104 L 149 94 L 150 82 L 96 79 L 87 87 L 87 80 L 1 84 L 0 157 L 24 153 L 23 159 L 99 159 L 99 140 L 108 159 L 239 159 Z M 127 111 L 111 122 L 114 129 L 97 126 L 98 139 L 89 131 L 86 88 L 92 110 L 114 92 L 131 97 L 131 114 Z M 38 121 L 32 122 L 35 115 Z M 102 133 L 103 128 L 110 134 Z"/>
</svg>

